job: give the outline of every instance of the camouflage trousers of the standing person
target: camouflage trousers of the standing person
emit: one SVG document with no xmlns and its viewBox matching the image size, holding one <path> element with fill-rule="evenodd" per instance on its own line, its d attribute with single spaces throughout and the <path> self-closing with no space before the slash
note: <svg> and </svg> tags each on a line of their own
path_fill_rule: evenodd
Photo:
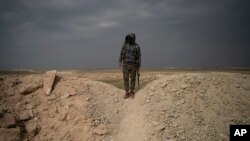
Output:
<svg viewBox="0 0 250 141">
<path fill-rule="evenodd" d="M 125 86 L 125 91 L 134 91 L 135 90 L 135 81 L 136 81 L 136 65 L 126 65 L 123 64 L 123 81 Z M 130 81 L 129 81 L 130 78 Z"/>
</svg>

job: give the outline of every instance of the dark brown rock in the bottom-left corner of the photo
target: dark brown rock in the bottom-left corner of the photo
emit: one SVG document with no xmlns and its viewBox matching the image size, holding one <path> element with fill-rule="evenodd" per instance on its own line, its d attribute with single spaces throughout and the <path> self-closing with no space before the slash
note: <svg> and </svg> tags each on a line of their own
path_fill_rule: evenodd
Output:
<svg viewBox="0 0 250 141">
<path fill-rule="evenodd" d="M 0 128 L 0 141 L 19 141 L 21 140 L 20 128 Z"/>
</svg>

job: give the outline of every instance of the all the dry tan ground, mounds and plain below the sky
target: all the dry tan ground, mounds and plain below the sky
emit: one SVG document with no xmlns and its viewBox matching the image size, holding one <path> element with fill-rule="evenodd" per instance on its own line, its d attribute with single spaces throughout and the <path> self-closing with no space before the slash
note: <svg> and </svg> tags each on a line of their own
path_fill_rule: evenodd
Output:
<svg viewBox="0 0 250 141">
<path fill-rule="evenodd" d="M 250 124 L 249 74 L 145 71 L 127 100 L 117 71 L 58 72 L 49 96 L 43 76 L 0 75 L 1 141 L 226 141 Z"/>
</svg>

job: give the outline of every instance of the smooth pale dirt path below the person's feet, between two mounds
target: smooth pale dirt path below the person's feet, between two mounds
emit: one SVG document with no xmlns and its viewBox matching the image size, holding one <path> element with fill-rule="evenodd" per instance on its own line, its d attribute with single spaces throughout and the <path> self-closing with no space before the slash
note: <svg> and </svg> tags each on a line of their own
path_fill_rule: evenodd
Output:
<svg viewBox="0 0 250 141">
<path fill-rule="evenodd" d="M 126 99 L 123 105 L 123 118 L 120 121 L 119 133 L 116 140 L 144 141 L 147 140 L 149 127 L 145 117 L 144 96 L 140 91 L 134 99 Z"/>
</svg>

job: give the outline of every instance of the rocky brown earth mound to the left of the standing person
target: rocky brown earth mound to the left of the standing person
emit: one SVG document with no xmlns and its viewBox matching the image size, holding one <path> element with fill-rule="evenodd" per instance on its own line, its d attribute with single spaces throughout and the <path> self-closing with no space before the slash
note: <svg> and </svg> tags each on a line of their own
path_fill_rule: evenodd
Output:
<svg viewBox="0 0 250 141">
<path fill-rule="evenodd" d="M 101 140 L 115 128 L 111 118 L 121 90 L 111 85 L 57 77 L 50 96 L 43 89 L 21 95 L 20 89 L 40 82 L 42 75 L 1 78 L 0 140 Z"/>
</svg>

